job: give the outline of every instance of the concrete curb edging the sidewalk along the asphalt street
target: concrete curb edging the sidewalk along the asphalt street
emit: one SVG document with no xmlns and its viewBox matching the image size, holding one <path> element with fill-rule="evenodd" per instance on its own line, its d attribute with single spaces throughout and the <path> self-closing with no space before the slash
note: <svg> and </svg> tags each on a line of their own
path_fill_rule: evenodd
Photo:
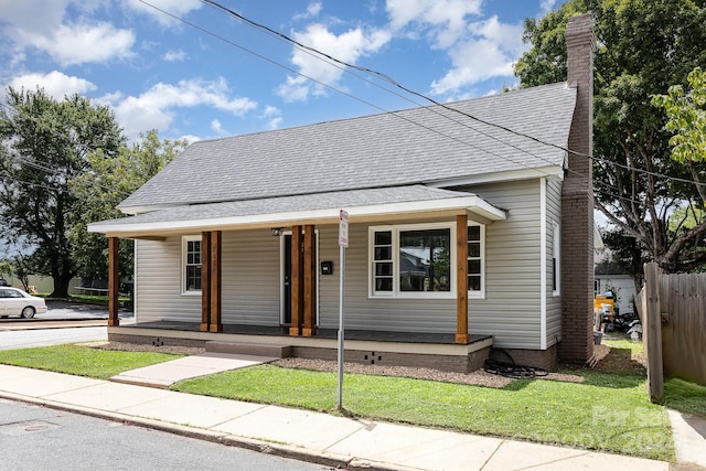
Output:
<svg viewBox="0 0 706 471">
<path fill-rule="evenodd" d="M 228 447 L 237 447 L 259 453 L 272 454 L 281 458 L 289 458 L 299 461 L 306 461 L 314 464 L 322 464 L 334 469 L 344 469 L 347 471 L 409 471 L 414 468 L 398 467 L 388 463 L 379 463 L 357 457 L 344 457 L 338 453 L 327 451 L 314 452 L 299 447 L 291 447 L 285 443 L 274 443 L 255 438 L 240 437 L 227 432 L 211 431 L 197 427 L 189 427 L 180 424 L 164 422 L 156 419 L 143 417 L 135 417 L 120 413 L 94 409 L 90 407 L 82 407 L 69 405 L 51 399 L 24 396 L 0 392 L 0 399 L 15 400 L 25 404 L 33 404 L 42 407 L 49 407 L 56 410 L 64 410 L 81 414 L 88 417 L 95 417 L 115 422 L 121 422 L 131 426 L 149 428 L 168 433 L 179 435 L 182 437 L 194 438 L 197 440 L 211 441 Z"/>
</svg>

